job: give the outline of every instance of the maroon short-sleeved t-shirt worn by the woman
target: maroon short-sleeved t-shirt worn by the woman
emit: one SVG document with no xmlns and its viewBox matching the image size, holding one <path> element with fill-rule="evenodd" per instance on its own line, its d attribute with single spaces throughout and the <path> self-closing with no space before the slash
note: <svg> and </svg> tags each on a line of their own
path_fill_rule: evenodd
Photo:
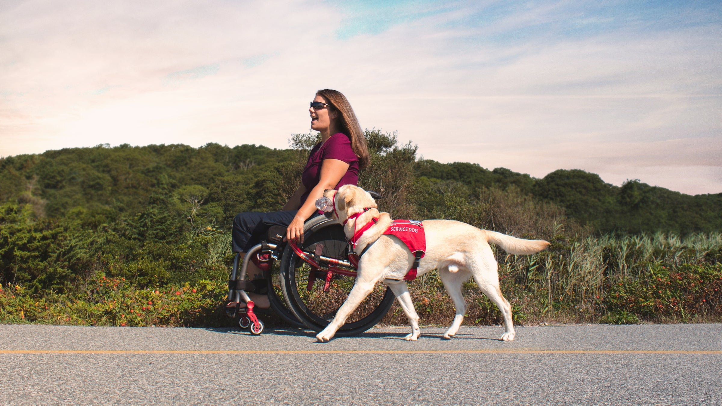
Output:
<svg viewBox="0 0 722 406">
<path fill-rule="evenodd" d="M 334 189 L 338 190 L 341 186 L 348 184 L 358 184 L 359 158 L 351 149 L 349 137 L 346 134 L 337 132 L 329 139 L 326 139 L 326 142 L 316 144 L 316 147 L 313 147 L 308 156 L 308 163 L 306 163 L 303 175 L 301 175 L 301 183 L 306 188 L 306 192 L 301 195 L 301 205 L 306 201 L 311 190 L 321 181 L 321 163 L 327 159 L 342 160 L 349 164 L 349 169 L 344 173 L 344 176 Z"/>
</svg>

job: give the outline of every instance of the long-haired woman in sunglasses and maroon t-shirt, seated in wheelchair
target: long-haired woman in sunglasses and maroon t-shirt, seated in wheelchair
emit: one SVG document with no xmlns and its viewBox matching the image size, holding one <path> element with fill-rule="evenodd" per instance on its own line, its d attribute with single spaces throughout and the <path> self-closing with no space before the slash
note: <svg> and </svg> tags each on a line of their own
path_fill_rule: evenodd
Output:
<svg viewBox="0 0 722 406">
<path fill-rule="evenodd" d="M 303 224 L 320 213 L 316 199 L 326 189 L 358 183 L 359 170 L 368 165 L 366 140 L 347 98 L 336 90 L 318 90 L 308 109 L 311 129 L 321 132 L 321 142 L 310 152 L 301 184 L 279 212 L 243 212 L 233 220 L 232 250 L 241 258 L 264 239 L 269 228 L 286 228 L 284 241 L 303 242 Z M 255 256 L 255 255 L 254 255 Z M 246 292 L 259 308 L 269 308 L 263 271 L 270 262 L 251 258 L 247 269 Z M 230 302 L 228 307 L 244 307 Z"/>
</svg>

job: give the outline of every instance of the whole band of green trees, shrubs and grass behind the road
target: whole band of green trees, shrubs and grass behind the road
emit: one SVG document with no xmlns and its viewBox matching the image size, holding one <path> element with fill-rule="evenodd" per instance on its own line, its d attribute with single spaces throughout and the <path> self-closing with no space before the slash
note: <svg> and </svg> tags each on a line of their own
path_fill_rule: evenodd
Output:
<svg viewBox="0 0 722 406">
<path fill-rule="evenodd" d="M 380 192 L 380 209 L 393 217 L 460 220 L 552 242 L 533 256 L 495 253 L 518 323 L 722 315 L 722 194 L 688 196 L 636 180 L 617 187 L 583 170 L 536 179 L 418 160 L 416 145 L 399 144 L 395 132 L 365 137 L 370 165 L 360 186 Z M 232 218 L 279 210 L 319 140 L 293 134 L 288 150 L 123 144 L 0 158 L 0 322 L 227 322 L 217 306 Z M 411 292 L 425 323 L 453 319 L 432 275 Z M 467 322 L 502 321 L 473 281 L 464 293 Z M 404 318 L 395 308 L 385 321 Z"/>
</svg>

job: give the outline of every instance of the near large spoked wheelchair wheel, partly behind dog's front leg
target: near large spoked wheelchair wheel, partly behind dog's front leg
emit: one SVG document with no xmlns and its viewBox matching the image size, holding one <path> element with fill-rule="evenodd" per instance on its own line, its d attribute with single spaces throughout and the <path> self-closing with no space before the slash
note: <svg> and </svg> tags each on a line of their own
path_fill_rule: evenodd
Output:
<svg viewBox="0 0 722 406">
<path fill-rule="evenodd" d="M 317 247 L 321 246 L 321 255 L 346 259 L 347 242 L 342 225 L 325 217 L 316 219 L 306 225 L 304 241 L 299 248 L 316 252 Z M 283 251 L 280 276 L 288 307 L 297 319 L 316 332 L 324 329 L 334 318 L 356 281 L 352 276 L 334 274 L 329 289 L 324 291 L 326 272 L 313 271 L 290 246 L 286 246 Z M 310 282 L 314 277 L 316 281 Z M 370 295 L 349 315 L 336 336 L 360 334 L 375 326 L 391 308 L 393 299 L 391 289 L 383 283 L 376 284 Z"/>
</svg>

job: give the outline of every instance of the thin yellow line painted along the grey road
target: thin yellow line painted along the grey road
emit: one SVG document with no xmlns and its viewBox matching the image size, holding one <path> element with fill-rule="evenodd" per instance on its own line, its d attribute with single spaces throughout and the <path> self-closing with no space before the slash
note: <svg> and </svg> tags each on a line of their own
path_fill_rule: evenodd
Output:
<svg viewBox="0 0 722 406">
<path fill-rule="evenodd" d="M 315 355 L 315 354 L 583 354 L 583 355 L 635 355 L 635 354 L 692 354 L 722 355 L 722 351 L 646 351 L 646 350 L 0 350 L 0 354 L 224 354 L 224 355 Z"/>
</svg>

